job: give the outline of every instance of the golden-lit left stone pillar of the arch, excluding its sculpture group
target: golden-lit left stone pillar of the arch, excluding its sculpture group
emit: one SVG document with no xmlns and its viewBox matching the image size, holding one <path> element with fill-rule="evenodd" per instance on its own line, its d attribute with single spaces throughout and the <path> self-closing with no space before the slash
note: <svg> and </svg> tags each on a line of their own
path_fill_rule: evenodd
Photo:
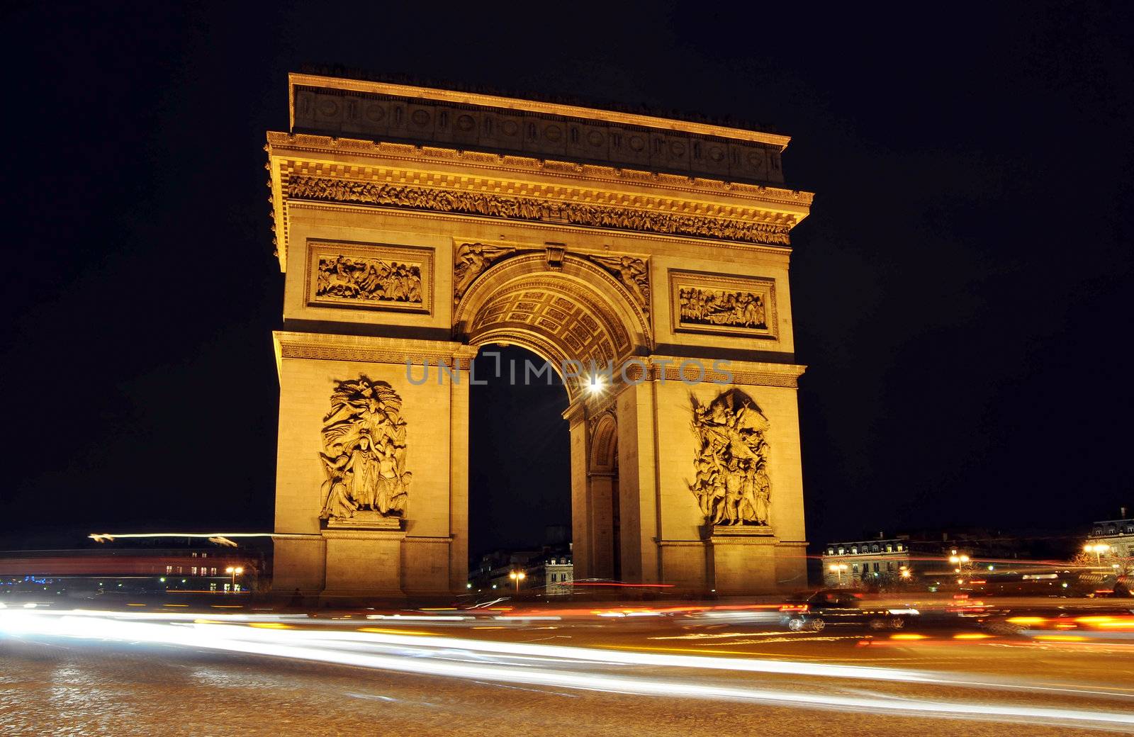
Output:
<svg viewBox="0 0 1134 737">
<path fill-rule="evenodd" d="M 468 556 L 468 358 L 456 342 L 277 332 L 280 434 L 273 587 L 327 596 L 449 594 Z M 409 371 L 406 361 L 414 362 Z M 423 376 L 422 361 L 429 362 Z M 441 371 L 438 364 L 450 369 Z M 452 369 L 454 365 L 462 366 Z M 404 516 L 357 510 L 320 519 L 324 423 L 344 381 L 366 378 L 400 398 Z"/>
</svg>

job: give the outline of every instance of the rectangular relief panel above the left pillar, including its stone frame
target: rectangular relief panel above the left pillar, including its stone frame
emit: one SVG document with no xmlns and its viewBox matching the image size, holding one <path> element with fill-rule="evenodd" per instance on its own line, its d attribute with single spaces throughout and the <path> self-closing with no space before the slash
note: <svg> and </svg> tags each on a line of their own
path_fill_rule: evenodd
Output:
<svg viewBox="0 0 1134 737">
<path fill-rule="evenodd" d="M 429 311 L 428 249 L 345 243 L 308 248 L 312 305 Z"/>
</svg>

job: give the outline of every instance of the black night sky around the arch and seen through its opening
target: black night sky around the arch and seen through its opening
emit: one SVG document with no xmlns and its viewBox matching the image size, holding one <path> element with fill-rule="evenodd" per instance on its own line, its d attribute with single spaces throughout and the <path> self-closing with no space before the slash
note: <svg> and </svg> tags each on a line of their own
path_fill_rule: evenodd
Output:
<svg viewBox="0 0 1134 737">
<path fill-rule="evenodd" d="M 789 6 L 7 5 L 0 541 L 270 527 L 304 62 L 794 136 L 812 541 L 1134 506 L 1129 3 Z M 566 522 L 561 404 L 474 397 L 475 544 Z"/>
</svg>

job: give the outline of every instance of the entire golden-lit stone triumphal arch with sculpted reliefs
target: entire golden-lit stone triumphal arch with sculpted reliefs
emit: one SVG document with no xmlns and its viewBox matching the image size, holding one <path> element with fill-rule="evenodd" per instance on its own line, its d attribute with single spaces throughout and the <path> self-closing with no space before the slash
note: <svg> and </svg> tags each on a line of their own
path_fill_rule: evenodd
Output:
<svg viewBox="0 0 1134 737">
<path fill-rule="evenodd" d="M 567 386 L 576 579 L 806 583 L 786 136 L 299 74 L 289 102 L 277 590 L 465 590 L 500 344 Z"/>
</svg>

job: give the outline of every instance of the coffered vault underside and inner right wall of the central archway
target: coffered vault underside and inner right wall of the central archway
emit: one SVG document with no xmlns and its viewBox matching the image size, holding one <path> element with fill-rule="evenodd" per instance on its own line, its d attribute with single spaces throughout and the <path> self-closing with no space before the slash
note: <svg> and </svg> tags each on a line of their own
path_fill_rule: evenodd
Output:
<svg viewBox="0 0 1134 737">
<path fill-rule="evenodd" d="M 649 355 L 649 320 L 625 286 L 585 257 L 566 255 L 556 266 L 549 270 L 548 255 L 533 253 L 488 269 L 458 303 L 455 333 L 476 347 L 526 348 L 560 375 L 573 406 L 587 399 L 601 405 L 609 383 L 595 391 L 592 374 L 609 382 L 627 357 Z M 617 578 L 623 565 L 615 414 L 608 408 L 591 422 L 573 423 L 570 450 L 575 576 Z"/>
</svg>

